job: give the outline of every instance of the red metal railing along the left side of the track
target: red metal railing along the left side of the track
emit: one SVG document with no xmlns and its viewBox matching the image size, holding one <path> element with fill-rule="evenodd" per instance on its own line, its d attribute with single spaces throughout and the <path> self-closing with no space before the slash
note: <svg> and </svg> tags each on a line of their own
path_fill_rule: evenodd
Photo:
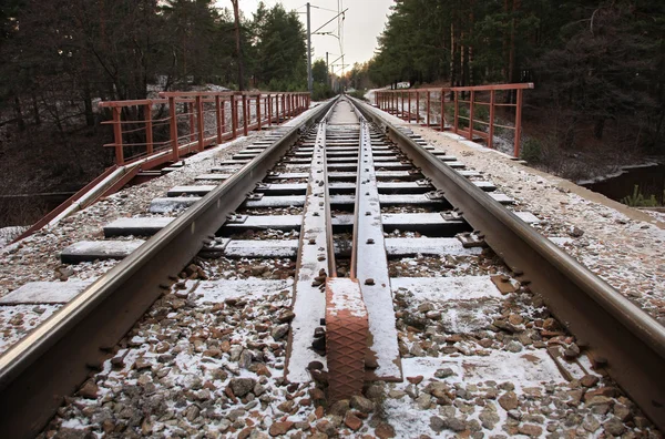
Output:
<svg viewBox="0 0 665 439">
<path fill-rule="evenodd" d="M 279 124 L 309 108 L 309 93 L 162 92 L 160 99 L 101 102 L 111 109 L 115 164 L 143 169 Z"/>
</svg>

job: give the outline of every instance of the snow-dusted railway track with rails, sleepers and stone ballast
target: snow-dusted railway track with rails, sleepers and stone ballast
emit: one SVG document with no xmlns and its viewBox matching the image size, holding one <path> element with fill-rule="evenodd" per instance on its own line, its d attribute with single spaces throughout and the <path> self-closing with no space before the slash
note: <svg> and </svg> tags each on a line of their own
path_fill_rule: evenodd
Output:
<svg viewBox="0 0 665 439">
<path fill-rule="evenodd" d="M 439 407 L 428 419 L 434 432 L 492 431 L 504 409 L 513 410 L 504 432 L 540 436 L 538 417 L 552 412 L 528 410 L 511 375 L 488 369 L 494 363 L 515 376 L 539 371 L 518 390 L 583 382 L 590 398 L 618 401 L 610 374 L 662 428 L 663 328 L 538 235 L 522 221 L 532 215 L 505 208 L 512 201 L 491 182 L 428 150 L 340 99 L 173 187 L 145 217 L 108 224 L 105 239 L 63 249 L 69 264 L 123 261 L 74 285 L 60 312 L 0 357 L 0 425 L 34 436 L 57 414 L 49 428 L 88 419 L 117 435 L 188 436 L 197 423 L 273 435 L 294 422 L 332 433 L 320 414 L 311 418 L 326 405 L 342 431 L 400 436 L 389 423 L 403 392 L 420 410 Z M 543 408 L 567 398 L 545 387 L 526 400 Z M 72 401 L 76 389 L 95 408 Z M 369 399 L 352 398 L 362 391 Z M 501 409 L 473 416 L 467 401 L 478 392 L 501 395 Z M 141 406 L 139 419 L 110 409 L 111 394 Z M 144 406 L 153 396 L 180 402 L 156 414 Z M 354 410 L 340 408 L 349 399 Z M 649 428 L 632 402 L 603 404 Z M 253 409 L 273 410 L 275 422 L 247 421 Z M 372 411 L 385 420 L 364 426 Z"/>
</svg>

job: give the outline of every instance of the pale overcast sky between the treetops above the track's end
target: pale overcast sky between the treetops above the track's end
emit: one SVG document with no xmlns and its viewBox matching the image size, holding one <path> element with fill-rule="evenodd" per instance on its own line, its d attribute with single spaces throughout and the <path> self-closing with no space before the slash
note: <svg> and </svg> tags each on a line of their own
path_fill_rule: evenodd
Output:
<svg viewBox="0 0 665 439">
<path fill-rule="evenodd" d="M 256 12 L 259 0 L 241 0 L 241 9 L 247 18 L 252 18 L 252 13 Z M 305 12 L 305 3 L 307 0 L 264 0 L 268 8 L 275 3 L 282 3 L 284 9 L 297 10 Z M 232 9 L 231 0 L 217 0 L 216 4 L 222 8 Z M 336 16 L 337 12 L 331 12 L 315 7 L 330 9 L 337 11 L 338 0 L 311 0 L 311 31 L 318 29 L 326 21 Z M 354 62 L 368 61 L 377 47 L 377 37 L 383 30 L 386 17 L 389 12 L 389 7 L 392 0 L 341 0 L 342 8 L 348 8 L 346 19 L 344 21 L 344 49 L 345 63 L 352 65 Z M 300 14 L 300 20 L 306 25 L 306 14 Z M 326 25 L 321 32 L 337 32 L 337 20 Z M 326 52 L 329 52 L 329 60 L 332 62 L 341 53 L 339 52 L 339 43 L 335 37 L 330 35 L 313 35 L 311 45 L 314 45 L 313 62 L 317 59 L 326 59 Z M 341 61 L 338 61 L 341 64 Z M 335 70 L 337 74 L 341 73 L 338 68 Z M 347 69 L 348 70 L 348 69 Z"/>
</svg>

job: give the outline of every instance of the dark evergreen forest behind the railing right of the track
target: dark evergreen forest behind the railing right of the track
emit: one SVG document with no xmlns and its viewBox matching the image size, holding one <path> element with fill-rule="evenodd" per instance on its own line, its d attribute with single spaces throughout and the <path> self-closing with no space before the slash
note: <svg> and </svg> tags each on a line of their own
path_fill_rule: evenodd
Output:
<svg viewBox="0 0 665 439">
<path fill-rule="evenodd" d="M 380 85 L 535 83 L 524 154 L 549 171 L 665 154 L 661 0 L 396 0 L 378 43 Z"/>
</svg>

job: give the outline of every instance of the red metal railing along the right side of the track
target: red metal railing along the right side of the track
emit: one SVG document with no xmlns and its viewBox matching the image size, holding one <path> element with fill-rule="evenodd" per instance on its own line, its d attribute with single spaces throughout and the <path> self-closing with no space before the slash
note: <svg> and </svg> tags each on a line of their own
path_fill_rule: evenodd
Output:
<svg viewBox="0 0 665 439">
<path fill-rule="evenodd" d="M 495 129 L 512 130 L 514 131 L 513 155 L 519 157 L 522 137 L 522 99 L 523 91 L 526 89 L 533 89 L 533 83 L 381 90 L 375 93 L 375 105 L 409 123 L 415 121 L 441 131 L 451 130 L 471 141 L 480 137 L 485 141 L 488 147 L 494 147 Z M 411 105 L 413 100 L 415 103 Z M 482 108 L 487 108 L 487 112 L 481 111 Z M 511 108 L 514 112 L 505 111 Z M 452 123 L 448 124 L 450 118 L 447 118 L 447 111 L 451 110 Z M 498 116 L 512 124 L 497 123 Z"/>
</svg>

